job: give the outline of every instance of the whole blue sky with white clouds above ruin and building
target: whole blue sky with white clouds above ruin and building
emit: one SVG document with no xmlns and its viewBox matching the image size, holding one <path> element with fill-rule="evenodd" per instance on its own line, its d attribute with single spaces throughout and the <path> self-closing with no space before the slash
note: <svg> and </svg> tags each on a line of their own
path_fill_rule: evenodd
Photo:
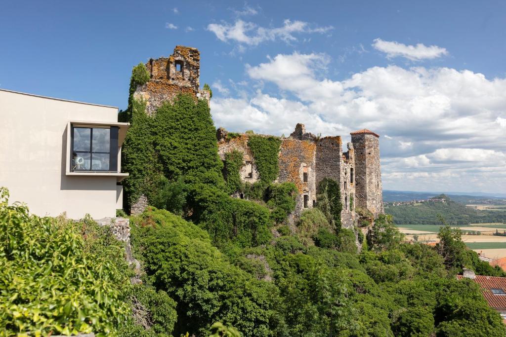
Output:
<svg viewBox="0 0 506 337">
<path fill-rule="evenodd" d="M 126 107 L 132 66 L 201 52 L 216 126 L 381 137 L 389 189 L 506 190 L 506 3 L 5 2 L 0 88 Z"/>
</svg>

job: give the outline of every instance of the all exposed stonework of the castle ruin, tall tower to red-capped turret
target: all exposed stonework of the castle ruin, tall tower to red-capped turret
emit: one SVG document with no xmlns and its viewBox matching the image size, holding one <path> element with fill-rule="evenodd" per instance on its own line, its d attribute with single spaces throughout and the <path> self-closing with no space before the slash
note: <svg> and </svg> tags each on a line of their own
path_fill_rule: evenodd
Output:
<svg viewBox="0 0 506 337">
<path fill-rule="evenodd" d="M 134 98 L 146 101 L 147 114 L 154 114 L 163 102 L 173 101 L 179 93 L 190 93 L 195 99 L 209 102 L 210 92 L 199 88 L 200 53 L 197 49 L 178 45 L 173 55 L 150 59 L 146 67 L 150 80 L 137 87 Z M 241 151 L 242 181 L 258 181 L 255 158 L 247 145 L 248 134 L 227 137 L 227 131 L 219 128 L 217 137 L 221 159 L 225 159 L 227 152 Z M 379 135 L 367 129 L 351 132 L 347 147 L 348 151 L 343 153 L 341 136 L 316 137 L 306 132 L 303 124 L 297 124 L 289 137 L 282 138 L 279 174 L 275 181 L 292 182 L 297 186 L 297 214 L 315 206 L 316 188 L 324 178 L 331 178 L 341 186 L 343 227 L 352 228 L 356 223 L 357 208 L 370 211 L 374 217 L 384 213 Z M 147 206 L 143 197 L 138 204 L 132 205 L 133 213 Z"/>
</svg>

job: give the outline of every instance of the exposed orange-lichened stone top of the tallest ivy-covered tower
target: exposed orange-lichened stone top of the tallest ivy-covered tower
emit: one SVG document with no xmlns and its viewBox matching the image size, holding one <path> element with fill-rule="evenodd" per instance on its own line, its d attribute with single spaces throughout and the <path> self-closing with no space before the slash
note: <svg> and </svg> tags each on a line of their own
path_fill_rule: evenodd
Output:
<svg viewBox="0 0 506 337">
<path fill-rule="evenodd" d="M 165 101 L 172 102 L 179 93 L 209 102 L 210 93 L 200 90 L 200 52 L 177 45 L 170 57 L 150 59 L 146 63 L 150 80 L 137 87 L 134 98 L 146 101 L 146 113 L 152 115 Z"/>
</svg>

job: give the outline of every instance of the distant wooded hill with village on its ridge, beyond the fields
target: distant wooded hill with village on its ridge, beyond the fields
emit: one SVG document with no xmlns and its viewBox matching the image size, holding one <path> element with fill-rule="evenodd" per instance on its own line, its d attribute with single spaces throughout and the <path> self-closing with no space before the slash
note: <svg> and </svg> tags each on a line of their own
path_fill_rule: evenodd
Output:
<svg viewBox="0 0 506 337">
<path fill-rule="evenodd" d="M 457 203 L 452 198 L 453 196 L 438 195 L 423 202 L 386 203 L 385 213 L 392 214 L 396 224 L 440 224 L 438 214 L 452 225 L 506 222 L 506 209 L 476 210 Z"/>
</svg>

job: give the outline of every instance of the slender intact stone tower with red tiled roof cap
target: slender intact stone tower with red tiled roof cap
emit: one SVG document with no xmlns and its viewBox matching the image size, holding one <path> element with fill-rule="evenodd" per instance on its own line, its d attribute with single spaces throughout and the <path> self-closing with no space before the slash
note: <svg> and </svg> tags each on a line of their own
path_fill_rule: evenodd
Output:
<svg viewBox="0 0 506 337">
<path fill-rule="evenodd" d="M 378 138 L 378 134 L 367 129 L 351 132 L 355 154 L 356 205 L 368 209 L 374 216 L 384 213 Z"/>
</svg>

